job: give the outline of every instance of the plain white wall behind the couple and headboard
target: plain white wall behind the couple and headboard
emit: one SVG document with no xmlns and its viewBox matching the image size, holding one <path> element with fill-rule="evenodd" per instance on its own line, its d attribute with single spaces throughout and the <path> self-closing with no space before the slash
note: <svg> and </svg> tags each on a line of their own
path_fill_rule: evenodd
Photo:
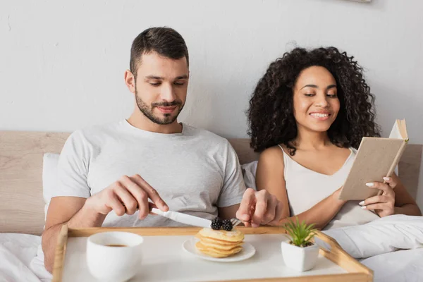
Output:
<svg viewBox="0 0 423 282">
<path fill-rule="evenodd" d="M 190 51 L 182 121 L 245 137 L 244 111 L 268 64 L 295 44 L 333 45 L 366 68 L 384 133 L 406 118 L 411 142 L 423 143 L 422 11 L 421 0 L 1 0 L 0 129 L 71 131 L 127 117 L 130 44 L 168 25 Z"/>
</svg>

